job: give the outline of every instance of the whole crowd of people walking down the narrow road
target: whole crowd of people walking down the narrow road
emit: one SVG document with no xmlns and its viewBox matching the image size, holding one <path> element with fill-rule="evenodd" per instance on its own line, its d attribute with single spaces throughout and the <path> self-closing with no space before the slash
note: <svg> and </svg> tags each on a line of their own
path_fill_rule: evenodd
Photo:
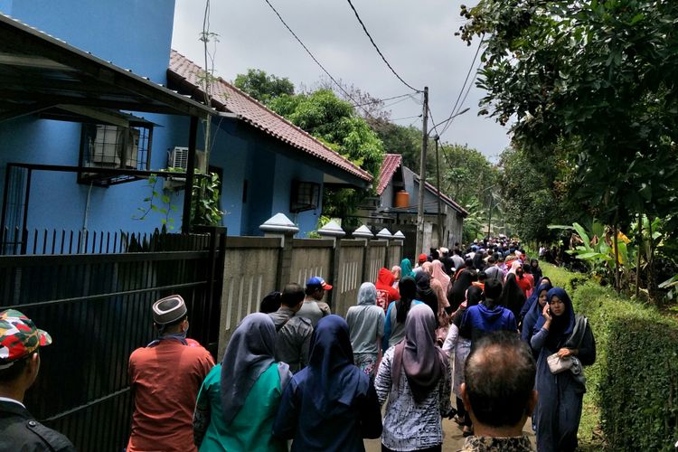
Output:
<svg viewBox="0 0 678 452">
<path fill-rule="evenodd" d="M 416 260 L 364 282 L 345 319 L 323 278 L 288 284 L 241 320 L 218 364 L 187 338 L 184 299 L 156 301 L 157 338 L 129 359 L 127 451 L 361 451 L 363 438 L 440 451 L 444 418 L 464 451 L 522 451 L 529 417 L 538 451 L 574 450 L 596 346 L 566 291 L 509 240 Z M 0 315 L 2 450 L 72 450 L 22 403 L 50 342 L 18 311 Z"/>
</svg>

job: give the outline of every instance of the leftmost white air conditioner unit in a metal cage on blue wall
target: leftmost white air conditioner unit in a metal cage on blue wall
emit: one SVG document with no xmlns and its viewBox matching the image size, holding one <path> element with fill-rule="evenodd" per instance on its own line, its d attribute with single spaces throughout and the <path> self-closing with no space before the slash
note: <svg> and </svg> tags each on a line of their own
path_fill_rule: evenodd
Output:
<svg viewBox="0 0 678 452">
<path fill-rule="evenodd" d="M 97 135 L 89 143 L 89 166 L 137 169 L 138 152 L 136 128 L 98 125 Z"/>
</svg>

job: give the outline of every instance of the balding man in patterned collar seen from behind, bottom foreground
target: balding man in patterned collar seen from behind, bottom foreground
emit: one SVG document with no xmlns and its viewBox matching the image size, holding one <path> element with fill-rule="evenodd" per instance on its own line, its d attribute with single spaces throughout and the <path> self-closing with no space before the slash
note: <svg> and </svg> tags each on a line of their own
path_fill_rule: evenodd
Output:
<svg viewBox="0 0 678 452">
<path fill-rule="evenodd" d="M 532 352 L 518 334 L 496 331 L 477 341 L 460 388 L 474 426 L 463 452 L 534 450 L 523 426 L 537 403 L 535 373 Z"/>
</svg>

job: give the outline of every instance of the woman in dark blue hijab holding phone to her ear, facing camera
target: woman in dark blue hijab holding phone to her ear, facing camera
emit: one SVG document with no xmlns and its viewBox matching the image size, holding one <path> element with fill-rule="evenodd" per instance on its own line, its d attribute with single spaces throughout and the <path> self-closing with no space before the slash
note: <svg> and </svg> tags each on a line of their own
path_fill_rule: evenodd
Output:
<svg viewBox="0 0 678 452">
<path fill-rule="evenodd" d="M 539 402 L 534 412 L 537 450 L 573 451 L 577 448 L 577 430 L 581 401 L 586 392 L 582 366 L 596 361 L 596 341 L 586 317 L 575 315 L 567 292 L 553 287 L 546 295 L 531 345 L 537 359 L 536 387 Z M 557 353 L 572 362 L 570 370 L 552 373 L 547 358 Z"/>
</svg>

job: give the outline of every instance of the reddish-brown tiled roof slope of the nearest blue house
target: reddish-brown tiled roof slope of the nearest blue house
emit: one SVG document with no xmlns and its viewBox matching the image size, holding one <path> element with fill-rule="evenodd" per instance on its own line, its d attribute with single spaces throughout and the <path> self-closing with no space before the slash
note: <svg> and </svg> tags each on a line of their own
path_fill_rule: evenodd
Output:
<svg viewBox="0 0 678 452">
<path fill-rule="evenodd" d="M 193 61 L 190 61 L 179 52 L 172 51 L 170 67 L 167 70 L 167 76 L 170 80 L 187 82 L 192 85 L 194 95 L 202 94 L 202 90 L 199 88 L 200 82 L 198 76 L 203 72 L 202 68 Z M 364 181 L 372 181 L 372 175 L 358 165 L 354 165 L 303 129 L 266 108 L 259 101 L 252 99 L 226 80 L 219 78 L 217 83 L 214 84 L 213 89 L 212 107 L 234 113 L 238 118 L 259 128 L 271 137 L 276 137 L 290 146 L 297 147 L 297 149 L 308 155 L 338 166 L 347 173 L 353 174 Z"/>
</svg>

